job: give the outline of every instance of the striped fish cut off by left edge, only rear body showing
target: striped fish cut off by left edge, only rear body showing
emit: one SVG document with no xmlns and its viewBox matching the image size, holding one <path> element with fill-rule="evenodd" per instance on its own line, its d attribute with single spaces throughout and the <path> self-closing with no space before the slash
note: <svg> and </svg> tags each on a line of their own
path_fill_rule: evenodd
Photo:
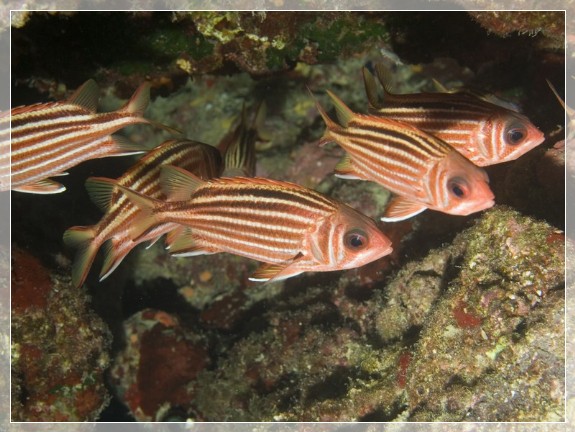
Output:
<svg viewBox="0 0 575 432">
<path fill-rule="evenodd" d="M 49 177 L 90 159 L 144 152 L 112 134 L 125 126 L 152 123 L 142 117 L 150 84 L 142 84 L 126 105 L 109 113 L 96 113 L 98 94 L 96 83 L 88 80 L 66 101 L 21 106 L 1 115 L 0 125 L 10 122 L 10 128 L 0 136 L 0 190 L 59 193 L 66 188 Z"/>
</svg>

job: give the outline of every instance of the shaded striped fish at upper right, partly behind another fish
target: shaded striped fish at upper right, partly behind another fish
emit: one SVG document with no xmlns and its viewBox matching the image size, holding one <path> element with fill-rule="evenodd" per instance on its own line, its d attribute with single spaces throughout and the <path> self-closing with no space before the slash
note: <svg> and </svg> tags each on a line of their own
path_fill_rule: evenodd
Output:
<svg viewBox="0 0 575 432">
<path fill-rule="evenodd" d="M 384 66 L 376 64 L 375 70 L 383 86 L 383 102 L 373 75 L 363 68 L 370 114 L 435 135 L 478 166 L 515 160 L 545 139 L 527 117 L 500 103 L 465 91 L 393 94 Z"/>
</svg>

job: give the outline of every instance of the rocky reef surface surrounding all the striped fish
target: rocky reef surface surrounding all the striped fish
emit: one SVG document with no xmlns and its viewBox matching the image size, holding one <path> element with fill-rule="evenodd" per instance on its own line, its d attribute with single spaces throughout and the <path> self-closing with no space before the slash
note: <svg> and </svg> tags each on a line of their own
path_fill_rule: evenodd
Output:
<svg viewBox="0 0 575 432">
<path fill-rule="evenodd" d="M 61 99 L 93 77 L 103 89 L 102 109 L 113 110 L 148 79 L 148 118 L 216 144 L 244 103 L 265 100 L 270 139 L 258 143 L 257 174 L 315 188 L 373 218 L 389 193 L 331 174 L 342 152 L 317 146 L 324 124 L 308 88 L 326 107 L 330 89 L 365 112 L 361 67 L 383 60 L 398 93 L 434 91 L 433 79 L 479 88 L 520 106 L 546 141 L 488 168 L 493 209 L 381 223 L 394 243 L 391 256 L 276 284 L 250 283 L 253 261 L 227 254 L 175 259 L 158 243 L 134 250 L 103 282 L 93 269 L 74 289 L 73 251 L 62 233 L 101 216 L 84 181 L 116 178 L 135 158 L 75 167 L 62 180 L 63 194 L 14 193 L 12 416 L 562 421 L 570 162 L 564 111 L 545 80 L 562 91 L 564 51 L 554 27 L 526 29 L 522 19 L 503 35 L 485 28 L 498 24 L 494 18 L 27 14 L 12 33 L 14 105 Z M 125 135 L 150 148 L 169 136 L 149 127 Z"/>
</svg>

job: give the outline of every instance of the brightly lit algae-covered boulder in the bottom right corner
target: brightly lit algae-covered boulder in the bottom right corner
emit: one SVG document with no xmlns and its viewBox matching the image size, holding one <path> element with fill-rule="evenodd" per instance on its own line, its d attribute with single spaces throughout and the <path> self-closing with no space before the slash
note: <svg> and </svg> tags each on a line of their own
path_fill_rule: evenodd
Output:
<svg viewBox="0 0 575 432">
<path fill-rule="evenodd" d="M 415 345 L 413 420 L 560 421 L 564 236 L 495 209 L 455 240 L 460 273 Z"/>
</svg>

